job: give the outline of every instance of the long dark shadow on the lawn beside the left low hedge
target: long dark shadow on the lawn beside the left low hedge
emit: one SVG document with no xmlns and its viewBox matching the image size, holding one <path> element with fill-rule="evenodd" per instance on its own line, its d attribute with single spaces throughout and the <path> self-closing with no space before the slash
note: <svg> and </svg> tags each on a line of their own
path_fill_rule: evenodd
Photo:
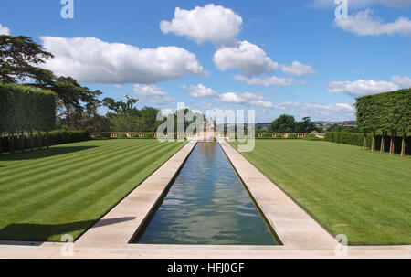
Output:
<svg viewBox="0 0 411 277">
<path fill-rule="evenodd" d="M 49 149 L 35 150 L 30 152 L 26 150 L 24 153 L 16 151 L 14 154 L 7 153 L 0 155 L 0 162 L 5 161 L 22 161 L 22 160 L 34 160 L 39 158 L 45 158 L 60 154 L 70 154 L 90 148 L 96 148 L 98 146 L 65 146 L 65 147 L 50 147 Z M 4 165 L 0 165 L 0 167 Z"/>
</svg>

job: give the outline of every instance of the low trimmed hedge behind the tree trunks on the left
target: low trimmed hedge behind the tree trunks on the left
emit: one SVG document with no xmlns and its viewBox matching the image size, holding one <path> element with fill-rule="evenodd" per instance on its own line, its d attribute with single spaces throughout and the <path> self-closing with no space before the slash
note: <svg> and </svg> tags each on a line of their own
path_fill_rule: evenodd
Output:
<svg viewBox="0 0 411 277">
<path fill-rule="evenodd" d="M 42 144 L 45 143 L 46 141 L 46 133 L 41 133 L 42 136 Z M 19 137 L 18 136 L 13 136 L 8 137 L 8 136 L 3 136 L 1 137 L 2 141 L 2 150 L 3 152 L 10 152 L 10 140 L 14 140 L 14 145 L 15 145 L 15 150 L 22 150 L 21 149 L 21 144 L 19 144 Z M 25 149 L 30 149 L 31 148 L 31 140 L 28 135 L 25 134 Z M 57 145 L 57 144 L 71 144 L 71 143 L 78 143 L 78 142 L 83 142 L 83 141 L 88 141 L 89 138 L 89 132 L 86 130 L 79 130 L 79 131 L 71 131 L 71 130 L 55 130 L 51 131 L 48 133 L 48 140 L 49 140 L 49 145 Z M 20 138 L 21 141 L 21 138 Z M 33 135 L 33 148 L 37 148 L 37 145 L 39 143 L 38 140 L 38 133 L 35 133 Z"/>
</svg>

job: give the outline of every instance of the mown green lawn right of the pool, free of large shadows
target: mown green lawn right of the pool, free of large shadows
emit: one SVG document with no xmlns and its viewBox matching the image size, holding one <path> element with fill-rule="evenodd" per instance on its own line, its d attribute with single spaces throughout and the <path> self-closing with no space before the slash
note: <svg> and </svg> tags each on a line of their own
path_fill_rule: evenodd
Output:
<svg viewBox="0 0 411 277">
<path fill-rule="evenodd" d="M 411 244 L 410 156 L 303 140 L 258 140 L 243 155 L 332 235 Z"/>
</svg>

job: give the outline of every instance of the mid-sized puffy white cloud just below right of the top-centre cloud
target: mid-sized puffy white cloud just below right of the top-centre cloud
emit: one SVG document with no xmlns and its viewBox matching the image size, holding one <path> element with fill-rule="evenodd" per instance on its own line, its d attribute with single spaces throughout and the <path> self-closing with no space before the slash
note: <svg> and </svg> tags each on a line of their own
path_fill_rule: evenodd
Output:
<svg viewBox="0 0 411 277">
<path fill-rule="evenodd" d="M 238 69 L 247 76 L 272 73 L 279 69 L 279 64 L 270 59 L 263 49 L 248 41 L 241 41 L 232 48 L 219 48 L 213 60 L 217 69 Z"/>
</svg>

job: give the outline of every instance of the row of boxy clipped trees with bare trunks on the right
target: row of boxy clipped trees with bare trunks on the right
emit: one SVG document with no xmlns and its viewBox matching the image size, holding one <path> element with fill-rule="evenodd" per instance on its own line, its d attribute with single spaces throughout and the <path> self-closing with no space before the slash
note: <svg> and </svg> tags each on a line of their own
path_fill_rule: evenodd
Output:
<svg viewBox="0 0 411 277">
<path fill-rule="evenodd" d="M 385 152 L 385 137 L 391 134 L 390 154 L 394 154 L 395 136 L 402 133 L 401 155 L 406 154 L 406 133 L 411 130 L 411 89 L 385 92 L 360 97 L 356 101 L 357 125 L 366 133 L 373 133 L 371 149 L 375 151 L 375 135 L 381 132 L 381 153 Z"/>
</svg>

